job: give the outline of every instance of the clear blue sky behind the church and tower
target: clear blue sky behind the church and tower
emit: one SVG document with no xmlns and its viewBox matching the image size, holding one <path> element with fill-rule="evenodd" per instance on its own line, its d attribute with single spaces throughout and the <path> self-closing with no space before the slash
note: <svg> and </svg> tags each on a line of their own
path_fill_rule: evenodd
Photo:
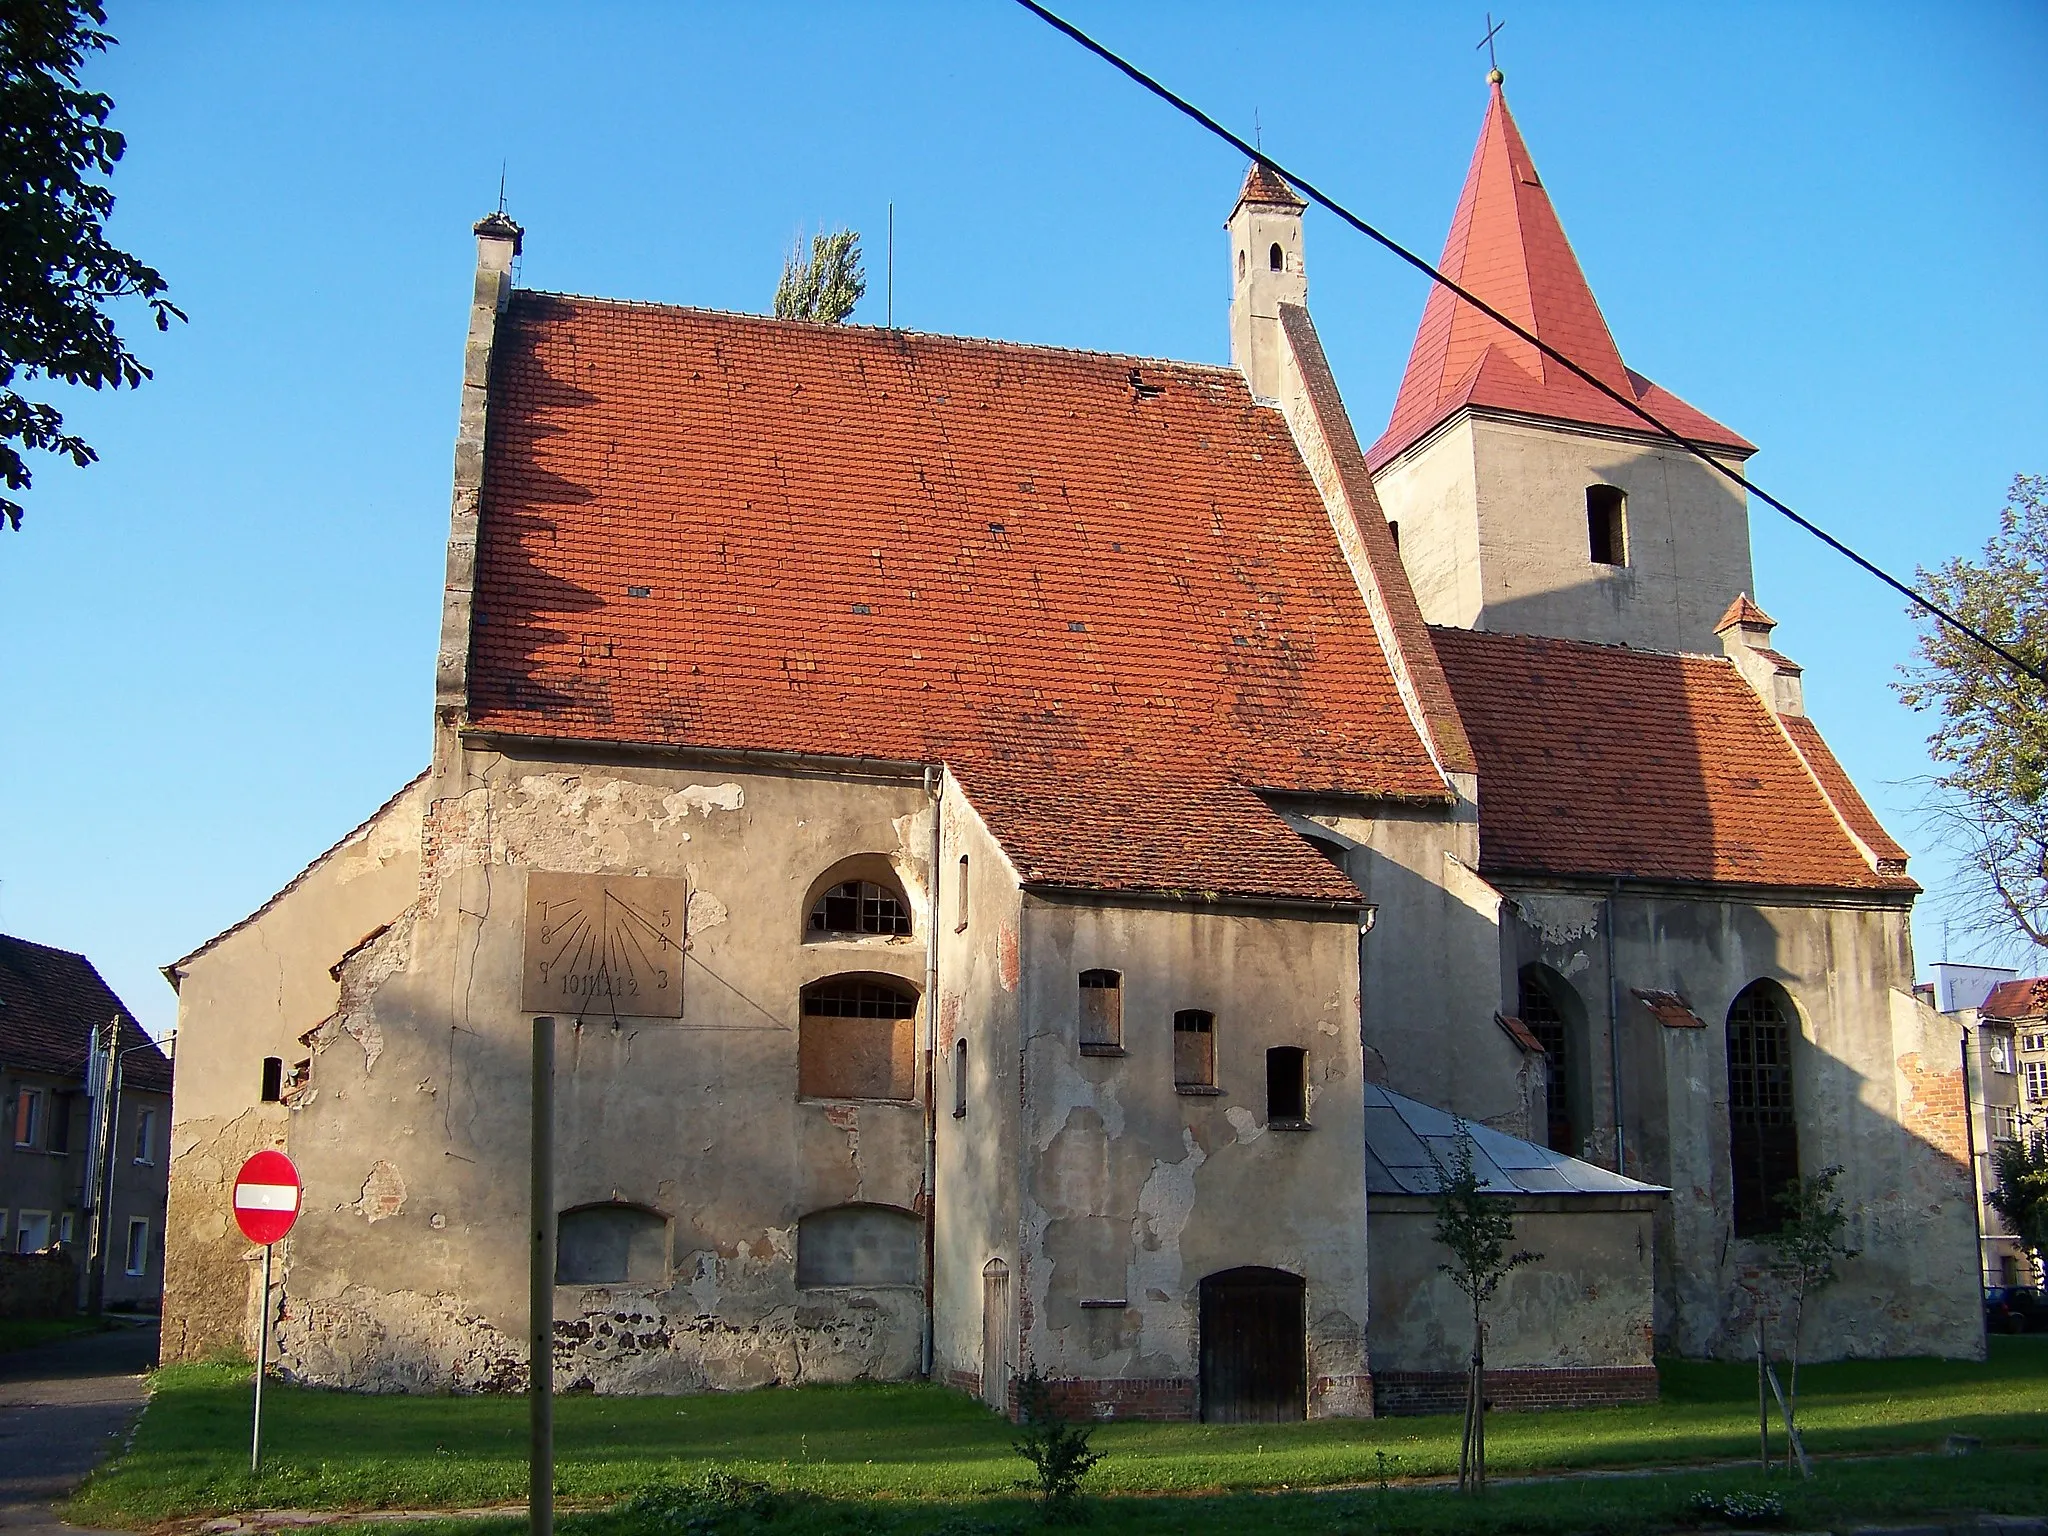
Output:
<svg viewBox="0 0 2048 1536">
<path fill-rule="evenodd" d="M 1427 256 L 1485 109 L 1481 10 L 1065 6 Z M 0 930 L 84 950 L 154 1030 L 156 967 L 426 762 L 500 166 L 528 287 L 766 309 L 795 231 L 848 223 L 879 324 L 893 201 L 903 326 L 1229 354 L 1237 156 L 1006 0 L 115 0 L 111 25 L 115 238 L 193 324 L 137 338 L 139 393 L 63 397 L 102 463 L 41 465 L 0 537 Z M 1880 563 L 1980 549 L 2048 469 L 2048 10 L 1522 4 L 1499 45 L 1630 365 Z M 1370 440 L 1423 283 L 1321 213 L 1307 262 Z M 1751 520 L 1808 711 L 1919 850 L 1901 602 Z M 1927 913 L 1921 963 L 1939 946 Z"/>
</svg>

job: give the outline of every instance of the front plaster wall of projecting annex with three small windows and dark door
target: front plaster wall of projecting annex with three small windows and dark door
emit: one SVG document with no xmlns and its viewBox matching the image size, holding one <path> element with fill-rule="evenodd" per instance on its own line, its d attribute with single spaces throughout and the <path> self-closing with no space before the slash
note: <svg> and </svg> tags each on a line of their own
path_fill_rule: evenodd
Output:
<svg viewBox="0 0 2048 1536">
<path fill-rule="evenodd" d="M 1309 1413 L 1370 1413 L 1358 924 L 1028 897 L 1024 1354 L 1092 1382 L 1198 1374 L 1200 1282 L 1307 1280 Z M 1122 973 L 1122 1057 L 1079 1053 L 1077 977 Z M 1174 1012 L 1217 1018 L 1214 1096 L 1174 1085 Z M 1266 1051 L 1309 1055 L 1313 1130 L 1266 1122 Z M 1083 1307 L 1083 1303 L 1124 1303 Z"/>
</svg>

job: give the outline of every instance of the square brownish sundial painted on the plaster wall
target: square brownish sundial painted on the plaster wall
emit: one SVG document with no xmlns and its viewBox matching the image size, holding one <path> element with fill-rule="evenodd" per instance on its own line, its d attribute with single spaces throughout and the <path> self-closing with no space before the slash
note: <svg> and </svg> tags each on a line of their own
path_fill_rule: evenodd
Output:
<svg viewBox="0 0 2048 1536">
<path fill-rule="evenodd" d="M 528 1014 L 682 1018 L 682 881 L 526 877 Z"/>
</svg>

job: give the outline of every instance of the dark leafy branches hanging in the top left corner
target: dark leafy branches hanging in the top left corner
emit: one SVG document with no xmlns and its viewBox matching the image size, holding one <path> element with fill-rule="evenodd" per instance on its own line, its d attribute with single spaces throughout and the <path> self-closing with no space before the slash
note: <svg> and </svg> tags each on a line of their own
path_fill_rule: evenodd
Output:
<svg viewBox="0 0 2048 1536">
<path fill-rule="evenodd" d="M 78 84 L 92 53 L 115 39 L 98 0 L 0 4 L 0 518 L 20 528 L 12 492 L 31 483 L 23 451 L 74 465 L 98 455 L 63 428 L 63 414 L 14 385 L 61 379 L 104 389 L 150 377 L 115 332 L 106 307 L 143 299 L 158 330 L 184 311 L 166 283 L 106 242 L 115 197 L 96 180 L 127 152 L 106 127 L 113 100 Z M 18 446 L 16 446 L 18 444 Z"/>
</svg>

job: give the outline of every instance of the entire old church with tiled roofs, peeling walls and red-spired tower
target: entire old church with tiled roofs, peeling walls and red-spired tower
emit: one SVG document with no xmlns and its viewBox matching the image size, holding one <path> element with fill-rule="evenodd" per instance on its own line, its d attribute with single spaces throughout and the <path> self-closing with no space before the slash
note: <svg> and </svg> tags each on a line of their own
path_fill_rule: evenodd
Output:
<svg viewBox="0 0 2048 1536">
<path fill-rule="evenodd" d="M 1982 1352 L 1960 1030 L 1741 489 L 1444 293 L 1364 451 L 1300 199 L 1227 227 L 1235 367 L 528 293 L 475 225 L 432 762 L 168 967 L 168 1356 L 266 1303 L 299 1378 L 518 1386 L 541 1014 L 563 1384 L 1442 1403 L 1460 1118 L 1546 1253 L 1503 1401 L 1751 1350 L 1829 1163 L 1808 1348 Z M 1497 88 L 1444 264 L 1751 453 L 1622 365 Z"/>
</svg>

